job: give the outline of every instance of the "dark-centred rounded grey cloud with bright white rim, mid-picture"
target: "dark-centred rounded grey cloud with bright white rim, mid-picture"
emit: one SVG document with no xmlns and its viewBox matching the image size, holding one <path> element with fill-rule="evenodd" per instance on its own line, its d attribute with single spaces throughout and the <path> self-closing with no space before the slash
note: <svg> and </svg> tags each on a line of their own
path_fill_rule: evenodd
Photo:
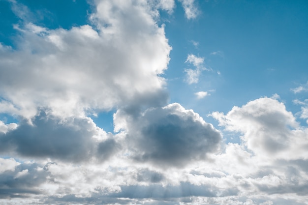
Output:
<svg viewBox="0 0 308 205">
<path fill-rule="evenodd" d="M 130 117 L 118 110 L 115 131 L 127 136 L 133 158 L 160 166 L 185 166 L 219 148 L 221 135 L 192 110 L 174 103 Z"/>
</svg>

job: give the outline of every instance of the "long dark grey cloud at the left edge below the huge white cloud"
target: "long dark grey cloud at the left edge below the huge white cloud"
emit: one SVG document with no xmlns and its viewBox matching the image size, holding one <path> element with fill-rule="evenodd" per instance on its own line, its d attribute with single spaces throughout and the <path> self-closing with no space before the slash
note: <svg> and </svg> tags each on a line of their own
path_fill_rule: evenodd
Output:
<svg viewBox="0 0 308 205">
<path fill-rule="evenodd" d="M 98 133 L 89 118 L 75 117 L 62 122 L 42 110 L 32 123 L 23 121 L 16 129 L 1 134 L 0 152 L 78 162 L 95 157 L 106 160 L 118 149 L 112 138 L 102 142 L 93 139 Z"/>
</svg>

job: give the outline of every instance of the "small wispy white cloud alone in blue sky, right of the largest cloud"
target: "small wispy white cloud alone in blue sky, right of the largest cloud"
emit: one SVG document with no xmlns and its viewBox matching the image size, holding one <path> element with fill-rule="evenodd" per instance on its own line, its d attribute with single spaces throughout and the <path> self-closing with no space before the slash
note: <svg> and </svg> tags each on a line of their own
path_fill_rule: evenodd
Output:
<svg viewBox="0 0 308 205">
<path fill-rule="evenodd" d="M 199 76 L 201 75 L 203 70 L 209 70 L 203 66 L 204 58 L 196 57 L 193 54 L 189 54 L 185 63 L 188 62 L 192 64 L 195 69 L 185 69 L 186 73 L 186 82 L 188 84 L 198 83 Z"/>
</svg>

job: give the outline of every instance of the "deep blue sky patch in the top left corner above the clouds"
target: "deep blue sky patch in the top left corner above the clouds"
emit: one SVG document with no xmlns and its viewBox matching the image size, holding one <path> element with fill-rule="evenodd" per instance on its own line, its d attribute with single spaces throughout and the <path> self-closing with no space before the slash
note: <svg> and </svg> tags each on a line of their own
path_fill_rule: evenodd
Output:
<svg viewBox="0 0 308 205">
<path fill-rule="evenodd" d="M 18 0 L 16 4 L 1 0 L 0 42 L 15 48 L 20 34 L 14 29 L 17 24 L 31 22 L 48 29 L 71 29 L 89 24 L 91 11 L 87 0 Z"/>
</svg>

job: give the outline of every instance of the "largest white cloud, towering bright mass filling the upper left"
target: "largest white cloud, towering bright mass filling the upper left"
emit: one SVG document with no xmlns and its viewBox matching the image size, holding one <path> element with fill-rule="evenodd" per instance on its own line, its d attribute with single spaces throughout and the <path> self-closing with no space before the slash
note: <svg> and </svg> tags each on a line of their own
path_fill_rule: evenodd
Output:
<svg viewBox="0 0 308 205">
<path fill-rule="evenodd" d="M 16 26 L 17 49 L 0 49 L 2 112 L 30 119 L 47 107 L 55 116 L 86 116 L 164 89 L 158 75 L 167 68 L 171 47 L 153 8 L 129 0 L 94 3 L 90 25 Z"/>
</svg>

